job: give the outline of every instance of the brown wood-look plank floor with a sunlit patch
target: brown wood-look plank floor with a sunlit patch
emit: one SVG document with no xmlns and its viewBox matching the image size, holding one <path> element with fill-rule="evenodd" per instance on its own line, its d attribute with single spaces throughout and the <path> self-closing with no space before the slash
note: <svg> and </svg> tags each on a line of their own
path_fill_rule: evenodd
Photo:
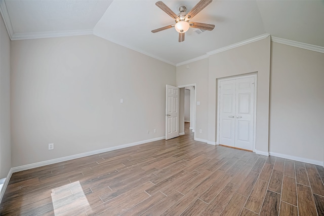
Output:
<svg viewBox="0 0 324 216">
<path fill-rule="evenodd" d="M 324 215 L 324 168 L 186 135 L 13 173 L 1 215 Z"/>
</svg>

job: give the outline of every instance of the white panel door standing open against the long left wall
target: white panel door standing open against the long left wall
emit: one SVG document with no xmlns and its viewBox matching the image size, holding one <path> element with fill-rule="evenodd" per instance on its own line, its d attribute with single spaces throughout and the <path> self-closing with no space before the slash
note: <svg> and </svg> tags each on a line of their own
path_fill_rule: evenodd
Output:
<svg viewBox="0 0 324 216">
<path fill-rule="evenodd" d="M 179 136 L 179 88 L 167 85 L 166 139 Z"/>
</svg>

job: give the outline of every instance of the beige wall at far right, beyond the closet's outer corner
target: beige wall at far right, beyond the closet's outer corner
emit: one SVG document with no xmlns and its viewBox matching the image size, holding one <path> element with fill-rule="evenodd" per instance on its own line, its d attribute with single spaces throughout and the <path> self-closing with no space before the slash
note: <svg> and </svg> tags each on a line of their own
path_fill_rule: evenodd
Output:
<svg viewBox="0 0 324 216">
<path fill-rule="evenodd" d="M 324 161 L 324 53 L 271 43 L 270 152 Z"/>
</svg>

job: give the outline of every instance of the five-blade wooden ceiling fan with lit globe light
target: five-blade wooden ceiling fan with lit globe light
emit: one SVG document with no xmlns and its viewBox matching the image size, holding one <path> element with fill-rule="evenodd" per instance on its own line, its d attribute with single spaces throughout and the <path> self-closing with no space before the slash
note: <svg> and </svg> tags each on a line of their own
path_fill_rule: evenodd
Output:
<svg viewBox="0 0 324 216">
<path fill-rule="evenodd" d="M 192 19 L 195 15 L 197 15 L 201 10 L 206 8 L 209 4 L 212 3 L 213 0 L 200 0 L 197 5 L 195 5 L 191 11 L 186 13 L 186 7 L 180 6 L 179 8 L 179 14 L 175 14 L 166 4 L 159 1 L 155 3 L 157 7 L 159 7 L 161 10 L 166 12 L 169 16 L 171 16 L 175 21 L 176 24 L 173 25 L 167 25 L 165 27 L 157 28 L 152 30 L 153 33 L 166 30 L 169 28 L 175 27 L 175 29 L 179 32 L 179 42 L 184 41 L 184 33 L 190 28 L 199 28 L 203 30 L 213 30 L 215 28 L 215 25 L 213 24 L 207 24 L 207 23 L 200 23 L 200 22 L 191 22 L 190 19 Z"/>
</svg>

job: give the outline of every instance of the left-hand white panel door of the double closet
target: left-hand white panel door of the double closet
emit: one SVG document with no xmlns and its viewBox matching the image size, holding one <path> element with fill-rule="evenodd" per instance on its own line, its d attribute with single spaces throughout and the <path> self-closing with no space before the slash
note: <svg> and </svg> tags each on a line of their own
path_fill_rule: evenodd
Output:
<svg viewBox="0 0 324 216">
<path fill-rule="evenodd" d="M 220 144 L 234 147 L 235 80 L 222 81 L 220 88 Z"/>
</svg>

